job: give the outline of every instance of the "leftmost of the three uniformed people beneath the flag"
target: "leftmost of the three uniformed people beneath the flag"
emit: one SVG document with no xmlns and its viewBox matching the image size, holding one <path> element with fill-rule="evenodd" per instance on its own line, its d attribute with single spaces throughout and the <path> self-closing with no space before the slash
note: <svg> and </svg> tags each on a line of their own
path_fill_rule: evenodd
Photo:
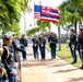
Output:
<svg viewBox="0 0 83 82">
<path fill-rule="evenodd" d="M 32 42 L 33 42 L 34 58 L 38 59 L 38 45 L 39 45 L 39 42 L 38 42 L 37 36 L 34 36 Z"/>
</svg>

